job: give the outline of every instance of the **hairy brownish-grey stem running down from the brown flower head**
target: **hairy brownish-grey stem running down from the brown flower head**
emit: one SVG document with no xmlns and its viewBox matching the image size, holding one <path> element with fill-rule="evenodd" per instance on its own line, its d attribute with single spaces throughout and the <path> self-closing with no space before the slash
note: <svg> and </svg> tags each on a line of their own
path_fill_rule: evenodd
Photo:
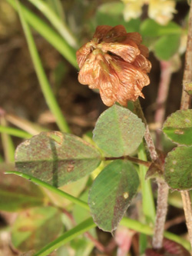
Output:
<svg viewBox="0 0 192 256">
<path fill-rule="evenodd" d="M 137 115 L 144 121 L 146 130 L 145 130 L 145 141 L 147 143 L 147 147 L 149 149 L 152 161 L 159 161 L 157 151 L 154 147 L 154 141 L 151 138 L 151 134 L 147 125 L 147 121 L 144 118 L 144 113 L 142 111 L 141 105 L 139 101 L 135 102 L 135 108 Z M 163 246 L 163 238 L 164 238 L 164 224 L 167 214 L 167 197 L 168 197 L 168 186 L 163 180 L 157 179 L 158 191 L 157 191 L 157 213 L 156 213 L 156 221 L 154 226 L 154 237 L 153 237 L 153 248 L 159 249 Z M 161 221 L 160 221 L 161 220 Z"/>
</svg>

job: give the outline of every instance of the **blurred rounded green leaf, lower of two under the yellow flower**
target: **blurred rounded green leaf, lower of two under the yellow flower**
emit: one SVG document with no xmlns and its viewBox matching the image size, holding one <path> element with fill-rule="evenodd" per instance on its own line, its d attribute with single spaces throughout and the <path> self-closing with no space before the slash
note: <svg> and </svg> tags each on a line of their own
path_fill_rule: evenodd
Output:
<svg viewBox="0 0 192 256">
<path fill-rule="evenodd" d="M 154 54 L 160 60 L 168 61 L 178 50 L 180 35 L 164 35 L 154 45 Z"/>
</svg>

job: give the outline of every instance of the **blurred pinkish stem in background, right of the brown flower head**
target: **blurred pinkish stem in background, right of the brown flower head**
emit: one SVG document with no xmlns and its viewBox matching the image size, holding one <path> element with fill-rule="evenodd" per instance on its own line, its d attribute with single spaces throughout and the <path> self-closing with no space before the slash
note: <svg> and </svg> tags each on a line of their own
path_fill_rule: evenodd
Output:
<svg viewBox="0 0 192 256">
<path fill-rule="evenodd" d="M 170 62 L 160 62 L 161 65 L 161 78 L 157 93 L 157 110 L 154 115 L 154 121 L 157 125 L 156 131 L 156 147 L 161 149 L 161 128 L 164 122 L 165 105 L 169 91 L 170 78 L 171 78 L 171 64 Z"/>
</svg>

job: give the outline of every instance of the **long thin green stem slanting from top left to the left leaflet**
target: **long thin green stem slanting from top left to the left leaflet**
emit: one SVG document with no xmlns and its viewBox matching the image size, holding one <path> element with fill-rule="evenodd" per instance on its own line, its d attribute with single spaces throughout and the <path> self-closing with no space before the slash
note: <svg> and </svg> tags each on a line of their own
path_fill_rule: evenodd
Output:
<svg viewBox="0 0 192 256">
<path fill-rule="evenodd" d="M 22 8 L 18 2 L 18 14 L 20 16 L 22 27 L 25 32 L 25 37 L 28 42 L 28 48 L 29 52 L 31 54 L 32 62 L 35 67 L 36 74 L 38 76 L 38 81 L 41 85 L 41 90 L 45 96 L 45 100 L 48 104 L 48 107 L 50 108 L 53 115 L 55 115 L 56 122 L 58 124 L 58 128 L 60 128 L 61 131 L 70 132 L 70 129 L 68 128 L 68 123 L 65 121 L 64 115 L 61 112 L 61 109 L 58 106 L 58 102 L 55 99 L 55 95 L 51 91 L 51 86 L 49 85 L 48 78 L 45 75 L 45 71 L 41 64 L 41 59 L 38 55 L 38 50 L 35 46 L 34 39 L 31 35 L 30 28 L 28 27 L 27 22 L 25 22 L 25 16 L 23 15 Z"/>
</svg>

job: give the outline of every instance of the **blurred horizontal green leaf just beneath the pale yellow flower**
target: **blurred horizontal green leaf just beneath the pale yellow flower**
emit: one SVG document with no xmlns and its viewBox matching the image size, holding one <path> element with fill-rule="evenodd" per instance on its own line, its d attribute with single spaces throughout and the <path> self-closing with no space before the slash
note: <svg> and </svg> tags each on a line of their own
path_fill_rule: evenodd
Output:
<svg viewBox="0 0 192 256">
<path fill-rule="evenodd" d="M 181 33 L 181 28 L 174 22 L 169 22 L 167 25 L 160 25 L 154 22 L 153 19 L 147 18 L 141 24 L 141 35 L 144 37 L 158 37 L 162 35 L 175 35 Z M 170 45 L 172 42 L 170 42 Z"/>
</svg>

